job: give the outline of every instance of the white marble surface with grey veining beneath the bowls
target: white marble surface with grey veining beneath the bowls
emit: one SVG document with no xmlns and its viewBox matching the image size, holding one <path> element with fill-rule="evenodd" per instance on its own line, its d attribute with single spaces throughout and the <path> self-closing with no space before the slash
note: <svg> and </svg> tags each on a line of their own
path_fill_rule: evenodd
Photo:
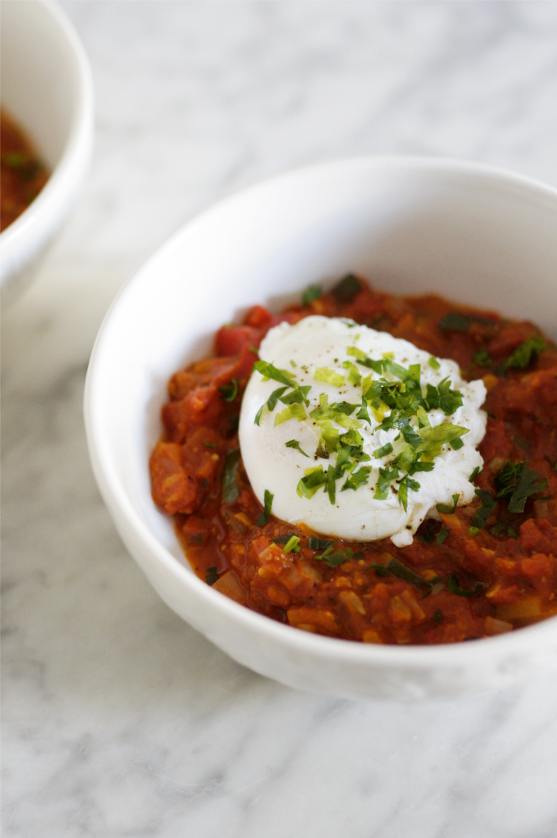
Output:
<svg viewBox="0 0 557 838">
<path fill-rule="evenodd" d="M 231 190 L 354 153 L 557 186 L 557 3 L 62 5 L 93 66 L 95 157 L 3 312 L 3 835 L 553 838 L 555 672 L 404 706 L 242 669 L 121 546 L 81 399 L 126 277 Z"/>
</svg>

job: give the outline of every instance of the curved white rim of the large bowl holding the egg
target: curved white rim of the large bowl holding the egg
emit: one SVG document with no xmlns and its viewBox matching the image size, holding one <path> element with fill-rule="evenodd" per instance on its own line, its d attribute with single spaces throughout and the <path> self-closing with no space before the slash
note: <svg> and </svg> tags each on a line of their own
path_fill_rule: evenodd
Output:
<svg viewBox="0 0 557 838">
<path fill-rule="evenodd" d="M 207 608 L 218 609 L 224 617 L 230 618 L 235 623 L 241 623 L 247 630 L 255 630 L 261 639 L 269 639 L 283 648 L 290 648 L 297 652 L 311 654 L 323 660 L 337 660 L 352 662 L 356 665 L 374 665 L 374 668 L 392 668 L 393 665 L 408 670 L 431 670 L 438 667 L 455 668 L 459 665 L 470 665 L 472 661 L 477 662 L 478 656 L 483 658 L 483 663 L 493 661 L 495 664 L 503 653 L 511 650 L 539 649 L 540 643 L 546 639 L 548 644 L 554 647 L 557 638 L 557 617 L 548 618 L 524 627 L 519 631 L 508 632 L 493 637 L 482 638 L 479 643 L 454 643 L 435 645 L 395 645 L 395 644 L 365 644 L 358 641 L 338 639 L 310 634 L 295 629 L 287 623 L 278 623 L 260 613 L 250 610 L 245 606 L 235 603 L 229 597 L 225 597 L 218 591 L 214 591 L 204 583 L 192 569 L 173 556 L 173 554 L 158 541 L 147 524 L 138 515 L 131 499 L 121 484 L 116 473 L 116 468 L 111 461 L 110 443 L 103 431 L 103 422 L 100 412 L 96 406 L 95 393 L 102 386 L 102 355 L 104 343 L 110 335 L 111 328 L 120 316 L 120 312 L 126 307 L 126 299 L 135 292 L 136 285 L 139 285 L 157 264 L 159 259 L 177 246 L 181 239 L 187 239 L 188 235 L 199 225 L 210 223 L 212 215 L 234 205 L 236 201 L 244 196 L 255 194 L 262 189 L 272 188 L 277 184 L 286 182 L 288 179 L 303 178 L 309 173 L 325 172 L 333 168 L 350 166 L 391 166 L 400 168 L 407 172 L 426 172 L 432 175 L 437 173 L 450 172 L 459 176 L 470 176 L 479 178 L 484 183 L 492 185 L 503 185 L 513 187 L 523 192 L 525 197 L 539 197 L 549 199 L 555 214 L 557 215 L 557 189 L 544 184 L 534 178 L 513 173 L 504 168 L 493 167 L 485 163 L 448 158 L 448 157 L 425 157 L 417 155 L 359 155 L 348 158 L 333 158 L 331 160 L 313 163 L 307 166 L 290 168 L 278 173 L 271 178 L 262 178 L 249 186 L 237 189 L 231 194 L 217 199 L 199 213 L 193 215 L 183 225 L 156 246 L 149 256 L 142 262 L 142 265 L 133 272 L 106 312 L 101 323 L 101 328 L 95 339 L 90 362 L 85 379 L 84 394 L 84 416 L 85 432 L 90 452 L 90 460 L 101 496 L 106 502 L 116 529 L 132 552 L 137 563 L 142 566 L 147 577 L 150 577 L 148 565 L 153 561 L 162 566 L 169 577 L 179 585 L 185 585 L 191 592 L 200 597 Z M 173 370 L 168 371 L 172 375 Z M 142 557 L 132 546 L 142 543 Z M 146 560 L 145 553 L 150 558 Z M 186 560 L 187 561 L 187 558 Z"/>
</svg>

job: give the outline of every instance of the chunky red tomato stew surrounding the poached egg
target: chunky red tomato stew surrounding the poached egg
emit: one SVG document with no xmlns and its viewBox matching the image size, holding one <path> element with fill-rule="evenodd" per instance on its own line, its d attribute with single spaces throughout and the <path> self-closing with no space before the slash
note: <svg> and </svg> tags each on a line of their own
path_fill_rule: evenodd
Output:
<svg viewBox="0 0 557 838">
<path fill-rule="evenodd" d="M 343 541 L 276 519 L 255 498 L 238 442 L 240 402 L 266 332 L 309 314 L 353 318 L 456 360 L 487 388 L 475 499 L 438 507 L 413 544 Z M 273 315 L 219 329 L 214 356 L 168 385 L 152 496 L 194 571 L 298 629 L 377 644 L 439 644 L 557 614 L 557 349 L 527 322 L 441 297 L 395 297 L 358 277 L 310 287 Z"/>
</svg>

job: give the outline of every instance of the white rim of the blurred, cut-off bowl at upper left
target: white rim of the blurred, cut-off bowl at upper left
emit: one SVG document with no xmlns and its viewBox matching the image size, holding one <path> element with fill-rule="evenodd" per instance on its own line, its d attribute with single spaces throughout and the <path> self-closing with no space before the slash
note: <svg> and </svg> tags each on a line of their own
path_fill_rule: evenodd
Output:
<svg viewBox="0 0 557 838">
<path fill-rule="evenodd" d="M 77 93 L 70 130 L 58 163 L 52 169 L 49 179 L 34 201 L 0 233 L 0 255 L 2 256 L 0 285 L 2 286 L 8 283 L 13 269 L 17 271 L 24 262 L 41 249 L 49 237 L 50 230 L 56 225 L 66 200 L 69 202 L 70 199 L 73 200 L 80 180 L 76 174 L 78 170 L 80 173 L 81 170 L 85 172 L 89 165 L 93 141 L 95 94 L 89 59 L 80 37 L 73 23 L 70 22 L 70 18 L 54 3 L 54 0 L 27 0 L 27 3 L 29 2 L 34 2 L 36 8 L 45 17 L 49 16 L 64 36 L 68 54 L 75 63 Z M 17 7 L 18 3 L 13 0 L 13 5 Z M 11 111 L 10 116 L 12 116 Z M 14 115 L 14 118 L 17 122 L 17 115 Z M 40 149 L 38 151 L 40 154 Z M 20 245 L 23 245 L 23 242 L 27 241 L 31 235 L 37 236 L 32 251 L 20 254 Z"/>
</svg>

